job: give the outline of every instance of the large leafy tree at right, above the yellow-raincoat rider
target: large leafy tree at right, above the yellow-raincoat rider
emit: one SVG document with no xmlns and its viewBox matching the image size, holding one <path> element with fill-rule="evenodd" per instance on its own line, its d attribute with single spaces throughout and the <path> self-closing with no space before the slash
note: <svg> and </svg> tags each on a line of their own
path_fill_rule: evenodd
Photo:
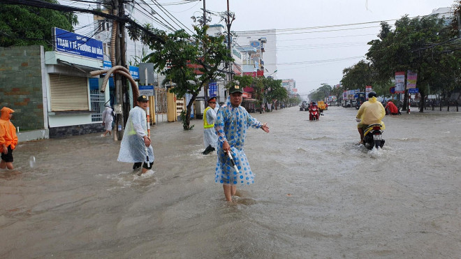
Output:
<svg viewBox="0 0 461 259">
<path fill-rule="evenodd" d="M 453 31 L 443 19 L 404 16 L 395 22 L 394 30 L 386 22 L 381 23 L 379 39 L 368 43 L 371 47 L 366 55 L 376 77 L 381 80 L 390 80 L 396 71 L 418 73 L 417 84 L 424 100 L 430 84 L 460 78 L 461 59 L 459 51 L 455 53 L 455 45 L 451 44 L 454 40 Z M 454 57 L 449 57 L 452 52 Z M 447 78 L 447 73 L 452 76 Z M 420 112 L 423 112 L 423 105 L 420 105 Z"/>
</svg>

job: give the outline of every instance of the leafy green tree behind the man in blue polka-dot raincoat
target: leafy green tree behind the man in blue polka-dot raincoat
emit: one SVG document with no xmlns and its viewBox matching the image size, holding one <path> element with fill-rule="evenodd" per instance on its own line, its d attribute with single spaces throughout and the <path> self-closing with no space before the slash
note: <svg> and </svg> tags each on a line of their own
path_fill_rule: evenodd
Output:
<svg viewBox="0 0 461 259">
<path fill-rule="evenodd" d="M 185 94 L 191 94 L 183 122 L 184 130 L 189 130 L 191 107 L 201 89 L 212 80 L 224 77 L 224 71 L 220 69 L 221 64 L 233 61 L 224 45 L 224 36 L 208 36 L 207 25 L 193 27 L 196 31 L 193 36 L 189 36 L 184 30 L 166 35 L 163 31 L 146 28 L 155 31 L 155 34 L 163 38 L 164 43 L 145 34 L 133 34 L 131 37 L 141 39 L 153 50 L 147 54 L 144 61 L 152 62 L 154 69 L 166 76 L 163 85 L 174 82 L 176 86 L 170 91 L 180 98 Z"/>
</svg>

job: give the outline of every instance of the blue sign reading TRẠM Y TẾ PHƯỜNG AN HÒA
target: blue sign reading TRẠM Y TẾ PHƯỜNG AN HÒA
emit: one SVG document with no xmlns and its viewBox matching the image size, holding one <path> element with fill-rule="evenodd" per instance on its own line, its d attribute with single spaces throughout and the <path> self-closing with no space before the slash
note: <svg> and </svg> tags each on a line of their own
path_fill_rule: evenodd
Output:
<svg viewBox="0 0 461 259">
<path fill-rule="evenodd" d="M 103 42 L 54 27 L 54 50 L 103 60 Z"/>
</svg>

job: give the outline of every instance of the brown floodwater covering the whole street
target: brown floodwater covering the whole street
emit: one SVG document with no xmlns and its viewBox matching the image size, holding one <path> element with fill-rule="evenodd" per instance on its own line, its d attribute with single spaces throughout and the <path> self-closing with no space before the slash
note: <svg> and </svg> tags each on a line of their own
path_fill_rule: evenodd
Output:
<svg viewBox="0 0 461 259">
<path fill-rule="evenodd" d="M 101 134 L 20 143 L 0 170 L 0 258 L 460 258 L 461 113 L 386 117 L 372 151 L 355 109 L 324 114 L 253 114 L 271 132 L 249 131 L 255 184 L 233 203 L 199 120 L 153 126 L 140 177 Z"/>
</svg>

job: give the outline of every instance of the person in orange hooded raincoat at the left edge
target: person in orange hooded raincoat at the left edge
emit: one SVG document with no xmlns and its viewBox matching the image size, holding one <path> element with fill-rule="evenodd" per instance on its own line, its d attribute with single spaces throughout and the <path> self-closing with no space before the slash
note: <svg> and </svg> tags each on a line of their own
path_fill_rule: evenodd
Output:
<svg viewBox="0 0 461 259">
<path fill-rule="evenodd" d="M 0 151 L 1 162 L 0 168 L 13 169 L 13 150 L 17 145 L 16 128 L 11 123 L 10 119 L 13 117 L 14 110 L 10 108 L 1 108 L 0 115 Z"/>
</svg>

